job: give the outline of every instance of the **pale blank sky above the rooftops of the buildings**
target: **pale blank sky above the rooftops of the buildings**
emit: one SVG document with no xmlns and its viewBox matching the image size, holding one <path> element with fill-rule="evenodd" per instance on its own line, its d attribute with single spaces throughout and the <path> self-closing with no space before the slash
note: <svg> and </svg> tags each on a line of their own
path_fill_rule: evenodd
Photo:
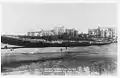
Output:
<svg viewBox="0 0 120 78">
<path fill-rule="evenodd" d="M 26 34 L 56 26 L 87 32 L 98 25 L 117 25 L 115 3 L 2 4 L 2 34 Z"/>
</svg>

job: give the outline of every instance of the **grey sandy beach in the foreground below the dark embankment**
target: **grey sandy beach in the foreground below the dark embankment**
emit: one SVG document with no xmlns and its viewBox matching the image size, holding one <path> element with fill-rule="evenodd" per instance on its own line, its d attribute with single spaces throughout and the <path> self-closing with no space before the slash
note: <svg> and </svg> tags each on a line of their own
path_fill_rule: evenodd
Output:
<svg viewBox="0 0 120 78">
<path fill-rule="evenodd" d="M 10 49 L 2 49 L 1 52 L 3 74 L 13 74 L 17 70 L 24 74 L 32 73 L 31 69 L 40 74 L 41 68 L 55 67 L 88 67 L 90 69 L 93 62 L 98 65 L 100 62 L 103 66 L 107 66 L 104 67 L 107 73 L 110 73 L 110 70 L 113 73 L 113 69 L 108 69 L 108 67 L 110 67 L 109 65 L 115 67 L 117 63 L 116 43 L 103 46 L 68 47 L 67 49 L 65 47 L 19 48 L 12 51 Z M 115 70 L 116 68 L 114 68 L 114 72 Z"/>
</svg>

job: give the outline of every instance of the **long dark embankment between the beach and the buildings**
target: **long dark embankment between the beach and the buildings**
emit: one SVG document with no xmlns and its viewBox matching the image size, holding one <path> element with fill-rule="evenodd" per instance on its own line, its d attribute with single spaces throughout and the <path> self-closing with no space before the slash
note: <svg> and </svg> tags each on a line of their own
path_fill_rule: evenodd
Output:
<svg viewBox="0 0 120 78">
<path fill-rule="evenodd" d="M 20 38 L 12 38 L 12 37 L 1 37 L 1 42 L 6 43 L 6 44 L 11 44 L 11 45 L 17 45 L 17 46 L 22 46 L 28 47 L 28 48 L 33 48 L 33 47 L 77 47 L 77 46 L 92 46 L 92 45 L 107 45 L 111 44 L 113 42 L 111 41 L 39 41 L 40 39 L 20 39 Z M 5 47 L 7 48 L 7 47 Z M 17 48 L 17 47 L 13 47 Z M 18 47 L 20 48 L 20 47 Z M 2 48 L 3 49 L 3 48 Z"/>
</svg>

